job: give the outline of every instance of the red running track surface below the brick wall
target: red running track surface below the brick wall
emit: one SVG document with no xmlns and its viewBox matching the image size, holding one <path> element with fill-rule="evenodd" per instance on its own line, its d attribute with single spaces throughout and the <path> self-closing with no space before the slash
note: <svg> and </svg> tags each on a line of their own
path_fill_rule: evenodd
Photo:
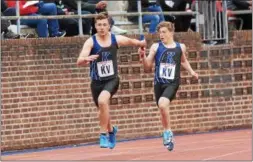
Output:
<svg viewBox="0 0 253 162">
<path fill-rule="evenodd" d="M 172 152 L 162 138 L 119 142 L 113 149 L 98 145 L 2 156 L 2 160 L 252 160 L 252 130 L 175 137 Z"/>
</svg>

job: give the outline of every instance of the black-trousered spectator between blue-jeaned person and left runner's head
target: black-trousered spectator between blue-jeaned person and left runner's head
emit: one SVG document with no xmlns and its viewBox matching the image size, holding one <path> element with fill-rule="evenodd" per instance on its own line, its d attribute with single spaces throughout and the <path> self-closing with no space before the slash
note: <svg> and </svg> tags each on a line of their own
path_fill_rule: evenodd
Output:
<svg viewBox="0 0 253 162">
<path fill-rule="evenodd" d="M 57 15 L 71 15 L 77 14 L 77 12 L 69 11 L 67 6 L 62 3 L 62 0 L 44 0 L 45 3 L 55 3 L 57 7 Z M 88 11 L 82 11 L 82 14 L 91 14 Z M 75 36 L 79 34 L 79 24 L 78 19 L 68 18 L 68 19 L 59 19 L 60 29 L 66 31 L 66 36 Z M 91 19 L 84 18 L 82 20 L 83 24 L 83 34 L 90 35 L 91 31 Z"/>
</svg>

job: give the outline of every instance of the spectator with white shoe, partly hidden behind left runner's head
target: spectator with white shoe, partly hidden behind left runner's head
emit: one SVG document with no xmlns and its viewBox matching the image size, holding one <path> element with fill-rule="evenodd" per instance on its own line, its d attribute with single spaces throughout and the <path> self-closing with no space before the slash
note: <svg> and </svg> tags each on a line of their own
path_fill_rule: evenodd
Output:
<svg viewBox="0 0 253 162">
<path fill-rule="evenodd" d="M 67 6 L 70 11 L 77 12 L 77 1 L 73 0 L 62 0 L 63 4 Z M 81 0 L 82 11 L 89 11 L 92 14 L 107 12 L 107 2 L 101 0 Z M 127 31 L 120 29 L 114 25 L 113 19 L 111 19 L 111 32 L 114 34 L 126 34 Z M 96 33 L 95 21 L 92 18 L 92 35 Z"/>
</svg>

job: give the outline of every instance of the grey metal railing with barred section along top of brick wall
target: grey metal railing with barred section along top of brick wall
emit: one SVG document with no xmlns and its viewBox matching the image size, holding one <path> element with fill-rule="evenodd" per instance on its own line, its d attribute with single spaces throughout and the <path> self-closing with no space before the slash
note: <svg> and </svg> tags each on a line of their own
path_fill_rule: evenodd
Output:
<svg viewBox="0 0 253 162">
<path fill-rule="evenodd" d="M 216 1 L 198 1 L 195 2 L 195 10 L 193 12 L 186 11 L 176 11 L 176 12 L 141 12 L 141 1 L 137 1 L 138 11 L 137 12 L 116 12 L 110 13 L 110 16 L 138 16 L 138 27 L 140 34 L 143 33 L 143 24 L 142 24 L 142 16 L 143 15 L 172 15 L 172 16 L 187 16 L 193 15 L 195 16 L 195 25 L 196 32 L 200 32 L 202 34 L 203 40 L 225 40 L 228 42 L 228 21 L 227 21 L 227 8 L 226 8 L 226 0 L 223 0 L 223 12 L 222 15 L 218 15 L 218 21 L 216 21 L 217 13 L 216 13 Z M 210 6 L 207 3 L 214 3 Z M 83 15 L 81 12 L 81 1 L 77 1 L 77 14 L 74 15 L 54 15 L 54 16 L 20 16 L 19 12 L 19 1 L 16 1 L 16 16 L 2 16 L 1 19 L 8 20 L 17 20 L 17 33 L 20 34 L 20 21 L 22 19 L 68 19 L 75 18 L 78 19 L 79 26 L 79 35 L 83 36 L 83 26 L 82 19 L 83 18 L 94 18 L 97 14 L 85 14 Z M 202 10 L 202 12 L 201 12 Z M 239 14 L 249 14 L 252 13 L 250 10 L 241 10 L 241 11 L 231 11 L 231 14 L 239 15 Z M 218 13 L 221 14 L 221 13 Z M 204 23 L 201 23 L 201 20 L 206 20 Z M 202 21 L 203 21 L 202 20 Z M 219 28 L 218 28 L 219 24 Z M 221 25 L 223 24 L 223 25 Z M 201 28 L 202 25 L 202 28 Z M 202 30 L 201 30 L 202 29 Z M 201 30 L 201 31 L 200 31 Z M 219 35 L 218 35 L 219 33 Z"/>
</svg>

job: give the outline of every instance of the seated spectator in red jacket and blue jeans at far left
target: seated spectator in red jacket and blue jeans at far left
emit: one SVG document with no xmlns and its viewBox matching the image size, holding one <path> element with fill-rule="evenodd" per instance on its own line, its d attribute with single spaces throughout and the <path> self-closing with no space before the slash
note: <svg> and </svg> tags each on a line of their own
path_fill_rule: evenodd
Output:
<svg viewBox="0 0 253 162">
<path fill-rule="evenodd" d="M 57 8 L 54 3 L 43 3 L 28 5 L 28 0 L 19 1 L 20 15 L 37 16 L 37 15 L 57 15 Z M 6 1 L 8 7 L 16 7 L 16 1 Z M 36 27 L 39 37 L 63 37 L 66 32 L 59 31 L 57 19 L 21 19 L 21 25 Z"/>
</svg>

